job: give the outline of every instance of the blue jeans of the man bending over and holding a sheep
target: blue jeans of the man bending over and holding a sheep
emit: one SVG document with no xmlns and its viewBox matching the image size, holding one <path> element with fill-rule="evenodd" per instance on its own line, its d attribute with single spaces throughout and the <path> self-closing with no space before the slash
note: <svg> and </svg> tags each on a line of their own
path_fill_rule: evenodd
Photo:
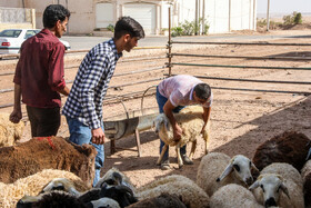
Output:
<svg viewBox="0 0 311 208">
<path fill-rule="evenodd" d="M 156 98 L 157 98 L 157 102 L 158 102 L 158 106 L 159 106 L 159 112 L 160 113 L 163 113 L 163 107 L 165 105 L 165 102 L 168 101 L 168 98 L 165 98 L 164 96 L 162 96 L 160 92 L 159 92 L 159 89 L 157 87 L 157 95 L 156 95 Z M 173 109 L 173 112 L 179 112 L 181 109 L 183 109 L 184 106 L 178 106 Z M 164 142 L 160 139 L 160 155 L 161 155 L 161 151 L 164 147 Z M 180 155 L 185 155 L 185 149 L 187 149 L 187 145 L 183 146 L 182 148 L 180 148 Z M 162 161 L 165 161 L 169 159 L 169 148 L 167 149 L 164 156 L 163 156 L 163 159 Z"/>
</svg>

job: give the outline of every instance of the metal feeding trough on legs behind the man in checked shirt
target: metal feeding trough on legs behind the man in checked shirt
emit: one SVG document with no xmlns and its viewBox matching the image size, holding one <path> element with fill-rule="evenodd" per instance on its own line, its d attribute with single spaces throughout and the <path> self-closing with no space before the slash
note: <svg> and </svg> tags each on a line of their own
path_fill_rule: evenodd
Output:
<svg viewBox="0 0 311 208">
<path fill-rule="evenodd" d="M 110 152 L 113 155 L 116 149 L 127 149 L 116 147 L 116 140 L 124 138 L 130 135 L 134 135 L 137 142 L 138 157 L 141 157 L 141 147 L 140 147 L 140 136 L 139 132 L 152 128 L 153 120 L 157 118 L 159 112 L 157 110 L 151 110 L 152 113 L 146 115 L 144 111 L 132 111 L 121 115 L 121 117 L 114 117 L 113 120 L 103 121 L 104 135 L 111 140 Z M 149 110 L 150 112 L 150 110 Z M 140 113 L 140 115 L 139 115 Z M 122 118 L 123 117 L 123 118 Z M 124 118 L 126 117 L 126 118 Z M 118 119 L 119 118 L 119 119 Z M 127 149 L 132 150 L 132 149 Z"/>
</svg>

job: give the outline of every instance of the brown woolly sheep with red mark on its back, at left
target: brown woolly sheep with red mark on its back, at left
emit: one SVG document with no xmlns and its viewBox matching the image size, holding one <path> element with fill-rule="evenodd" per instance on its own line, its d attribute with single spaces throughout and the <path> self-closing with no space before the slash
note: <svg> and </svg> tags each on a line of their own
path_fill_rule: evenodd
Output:
<svg viewBox="0 0 311 208">
<path fill-rule="evenodd" d="M 9 184 L 43 169 L 62 169 L 76 174 L 91 187 L 96 155 L 91 145 L 78 146 L 61 137 L 33 138 L 0 148 L 0 181 Z"/>
</svg>

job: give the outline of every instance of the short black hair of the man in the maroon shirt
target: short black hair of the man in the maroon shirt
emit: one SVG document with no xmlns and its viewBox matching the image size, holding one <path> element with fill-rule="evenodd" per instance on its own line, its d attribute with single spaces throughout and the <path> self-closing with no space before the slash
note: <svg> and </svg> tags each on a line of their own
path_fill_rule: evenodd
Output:
<svg viewBox="0 0 311 208">
<path fill-rule="evenodd" d="M 61 4 L 50 4 L 43 12 L 43 27 L 53 28 L 58 20 L 61 22 L 70 18 L 70 11 Z"/>
</svg>

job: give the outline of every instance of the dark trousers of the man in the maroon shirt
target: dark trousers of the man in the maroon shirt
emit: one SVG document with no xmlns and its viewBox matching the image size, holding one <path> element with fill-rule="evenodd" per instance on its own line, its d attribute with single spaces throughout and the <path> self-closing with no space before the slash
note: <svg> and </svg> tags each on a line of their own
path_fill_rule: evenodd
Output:
<svg viewBox="0 0 311 208">
<path fill-rule="evenodd" d="M 60 108 L 36 108 L 27 106 L 32 137 L 56 136 L 60 127 Z"/>
</svg>

